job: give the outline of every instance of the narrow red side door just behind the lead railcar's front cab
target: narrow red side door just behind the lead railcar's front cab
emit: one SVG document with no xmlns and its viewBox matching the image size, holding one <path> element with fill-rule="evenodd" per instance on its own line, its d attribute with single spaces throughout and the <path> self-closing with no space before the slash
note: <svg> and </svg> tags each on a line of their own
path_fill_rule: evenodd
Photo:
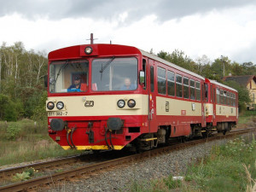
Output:
<svg viewBox="0 0 256 192">
<path fill-rule="evenodd" d="M 156 90 L 155 90 L 155 64 L 153 60 L 148 59 L 148 121 L 149 132 L 157 131 L 156 121 Z"/>
</svg>

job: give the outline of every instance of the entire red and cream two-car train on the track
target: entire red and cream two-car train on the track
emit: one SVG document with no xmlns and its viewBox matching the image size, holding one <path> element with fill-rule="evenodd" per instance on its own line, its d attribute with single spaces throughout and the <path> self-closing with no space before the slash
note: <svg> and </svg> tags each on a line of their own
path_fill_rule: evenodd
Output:
<svg viewBox="0 0 256 192">
<path fill-rule="evenodd" d="M 66 150 L 148 150 L 237 124 L 237 90 L 142 49 L 82 44 L 48 59 L 48 132 Z"/>
</svg>

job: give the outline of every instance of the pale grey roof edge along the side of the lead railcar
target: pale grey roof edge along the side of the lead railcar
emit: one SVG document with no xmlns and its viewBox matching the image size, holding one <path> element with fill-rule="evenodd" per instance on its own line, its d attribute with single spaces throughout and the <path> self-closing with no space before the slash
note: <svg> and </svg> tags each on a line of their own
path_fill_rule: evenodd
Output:
<svg viewBox="0 0 256 192">
<path fill-rule="evenodd" d="M 148 56 L 149 58 L 154 59 L 155 61 L 160 61 L 160 62 L 166 64 L 167 66 L 176 68 L 176 69 L 179 70 L 179 71 L 182 71 L 182 72 L 184 72 L 184 73 L 189 73 L 190 75 L 193 75 L 193 76 L 195 76 L 196 78 L 205 80 L 205 78 L 202 77 L 201 75 L 196 74 L 196 73 L 194 73 L 194 72 L 190 72 L 188 69 L 185 69 L 185 68 L 183 68 L 183 67 L 179 67 L 179 66 L 173 64 L 172 62 L 169 62 L 169 61 L 166 61 L 166 60 L 164 60 L 164 59 L 161 59 L 160 57 L 158 57 L 158 56 L 156 56 L 156 55 L 153 55 L 153 54 L 150 54 L 150 53 L 148 53 L 147 51 L 144 51 L 144 50 L 142 50 L 142 49 L 140 49 L 140 51 L 141 51 L 142 55 Z"/>
</svg>

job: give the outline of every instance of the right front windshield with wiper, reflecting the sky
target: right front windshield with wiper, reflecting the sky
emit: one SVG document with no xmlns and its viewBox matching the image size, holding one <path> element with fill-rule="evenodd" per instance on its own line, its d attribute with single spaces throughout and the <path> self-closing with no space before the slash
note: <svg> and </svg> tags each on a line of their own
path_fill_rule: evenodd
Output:
<svg viewBox="0 0 256 192">
<path fill-rule="evenodd" d="M 94 91 L 137 90 L 137 58 L 95 59 L 91 68 Z"/>
</svg>

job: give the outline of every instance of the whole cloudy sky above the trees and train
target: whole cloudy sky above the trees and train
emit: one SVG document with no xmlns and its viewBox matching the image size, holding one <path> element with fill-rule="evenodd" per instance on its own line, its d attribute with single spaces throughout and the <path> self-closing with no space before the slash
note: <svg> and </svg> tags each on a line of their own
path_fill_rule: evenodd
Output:
<svg viewBox="0 0 256 192">
<path fill-rule="evenodd" d="M 125 44 L 256 64 L 255 0 L 0 0 L 0 44 L 45 51 Z"/>
</svg>

